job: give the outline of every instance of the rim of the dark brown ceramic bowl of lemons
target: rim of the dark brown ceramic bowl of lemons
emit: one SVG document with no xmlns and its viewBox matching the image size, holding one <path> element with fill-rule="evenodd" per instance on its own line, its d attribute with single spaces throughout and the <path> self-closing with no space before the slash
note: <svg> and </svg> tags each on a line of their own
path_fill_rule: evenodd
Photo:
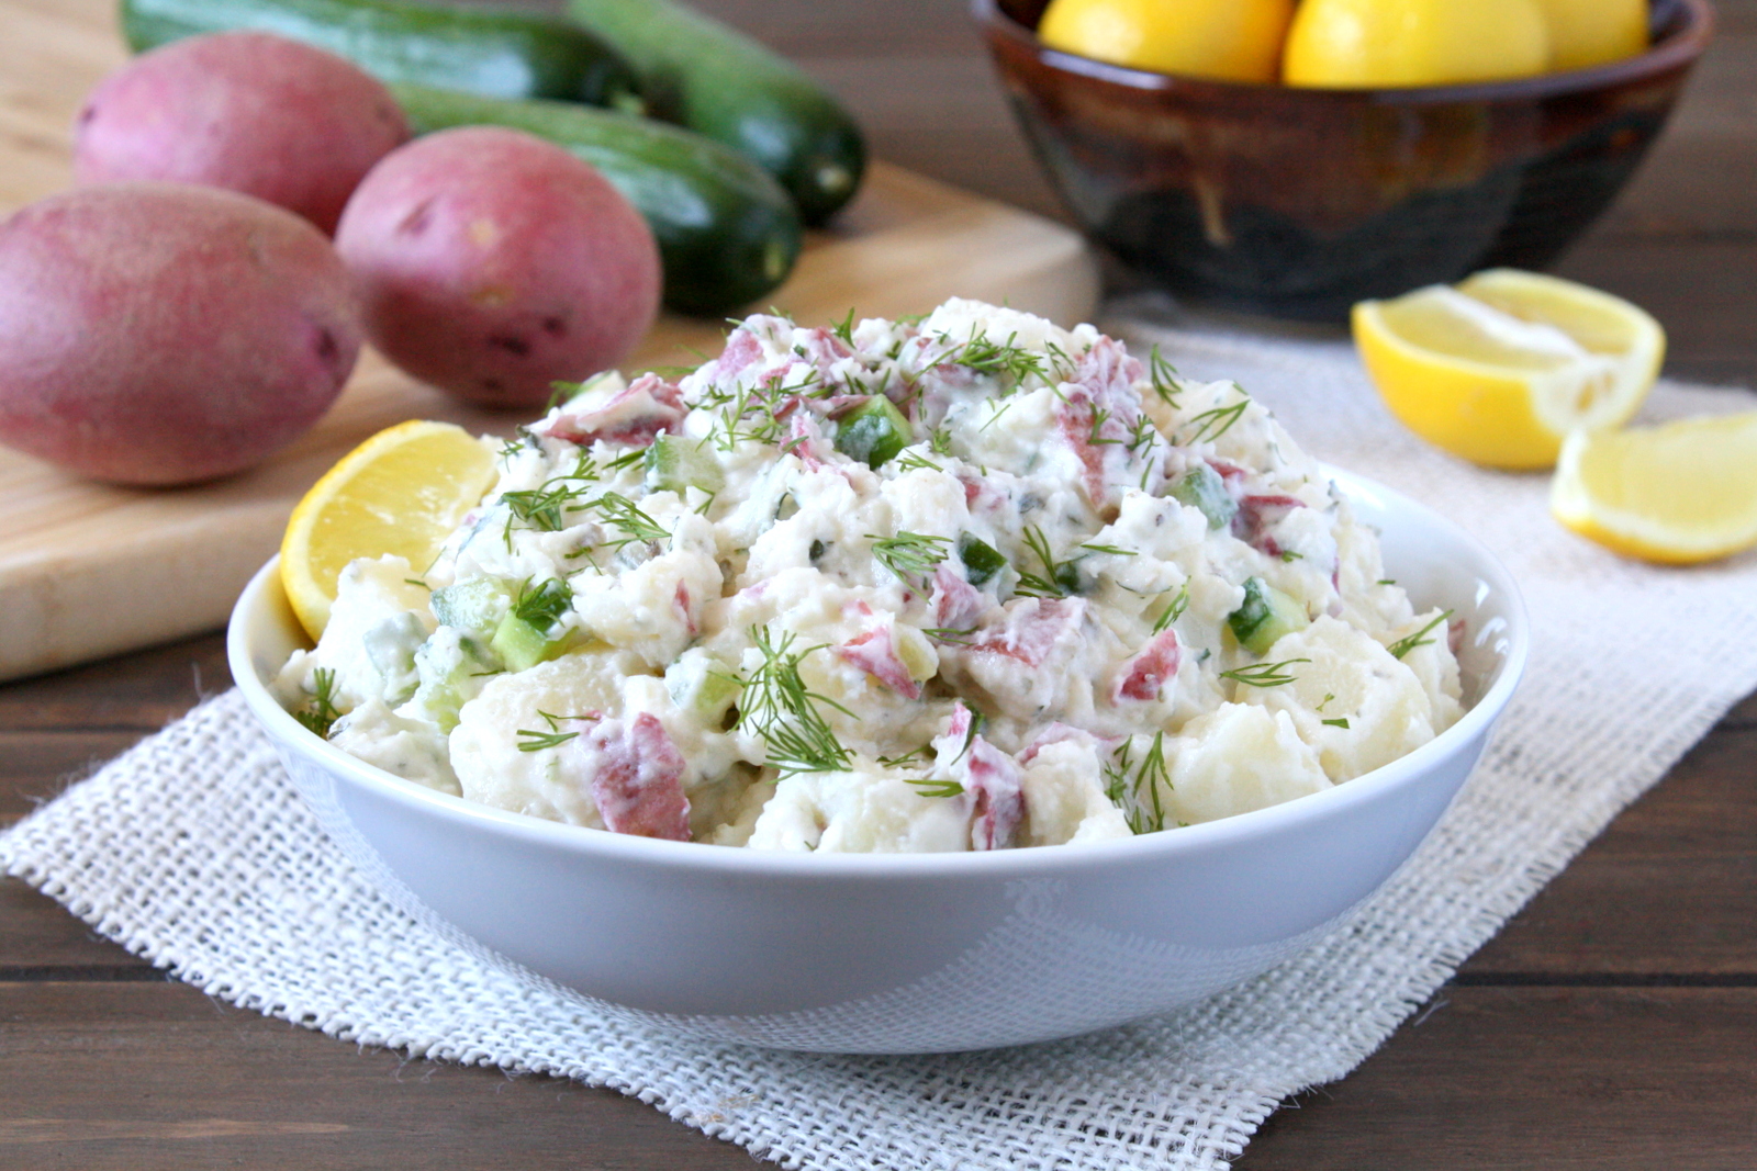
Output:
<svg viewBox="0 0 1757 1171">
<path fill-rule="evenodd" d="M 1569 93 L 1641 81 L 1673 68 L 1685 67 L 1703 54 L 1715 35 L 1717 14 L 1710 0 L 1674 0 L 1683 12 L 1681 25 L 1667 37 L 1650 46 L 1645 53 L 1590 65 L 1587 68 L 1569 68 L 1536 77 L 1515 77 L 1511 81 L 1471 81 L 1448 86 L 1402 86 L 1402 88 L 1328 88 L 1328 86 L 1286 86 L 1279 81 L 1223 81 L 1218 77 L 1193 77 L 1184 74 L 1160 74 L 1146 68 L 1112 65 L 1075 53 L 1051 49 L 1037 37 L 1035 28 L 1026 28 L 1000 9 L 998 0 L 970 0 L 970 12 L 977 25 L 991 37 L 1005 37 L 1028 51 L 1051 68 L 1063 74 L 1091 77 L 1128 90 L 1177 91 L 1221 95 L 1237 93 L 1288 93 L 1293 100 L 1311 102 L 1372 102 L 1381 105 L 1444 105 L 1457 102 L 1518 102 L 1534 98 L 1551 98 Z"/>
</svg>

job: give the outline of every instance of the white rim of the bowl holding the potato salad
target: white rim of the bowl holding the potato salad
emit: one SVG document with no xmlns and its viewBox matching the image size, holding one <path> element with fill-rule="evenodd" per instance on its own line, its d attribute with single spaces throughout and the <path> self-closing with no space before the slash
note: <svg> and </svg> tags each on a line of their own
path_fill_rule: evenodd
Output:
<svg viewBox="0 0 1757 1171">
<path fill-rule="evenodd" d="M 1530 616 L 1525 600 L 1513 574 L 1508 572 L 1506 565 L 1481 541 L 1427 506 L 1365 476 L 1342 472 L 1328 463 L 1323 465 L 1323 471 L 1342 488 L 1346 497 L 1376 499 L 1381 507 L 1390 504 L 1392 507 L 1411 509 L 1425 527 L 1437 528 L 1469 550 L 1479 564 L 1478 579 L 1504 599 L 1508 629 L 1502 634 L 1508 650 L 1500 671 L 1488 690 L 1483 692 L 1457 723 L 1427 744 L 1386 765 L 1316 794 L 1295 797 L 1293 801 L 1158 834 L 989 851 L 821 855 L 743 850 L 698 841 L 661 841 L 631 834 L 613 834 L 603 829 L 550 822 L 527 813 L 497 809 L 467 801 L 466 797 L 443 794 L 418 781 L 365 764 L 344 753 L 336 744 L 316 737 L 276 702 L 267 685 L 257 676 L 257 657 L 249 641 L 249 627 L 257 620 L 257 611 L 271 604 L 271 599 L 285 599 L 279 585 L 279 555 L 271 557 L 239 595 L 227 625 L 227 660 L 246 706 L 264 725 L 264 730 L 269 732 L 271 739 L 283 744 L 286 751 L 300 751 L 313 757 L 327 772 L 344 776 L 351 783 L 395 804 L 415 806 L 453 825 L 487 829 L 532 848 L 601 855 L 604 860 L 622 864 L 661 866 L 666 869 L 682 867 L 720 876 L 821 878 L 824 881 L 849 878 L 861 881 L 884 878 L 919 881 L 924 878 L 958 876 L 980 876 L 984 880 L 1040 878 L 1088 866 L 1114 866 L 1130 860 L 1146 862 L 1158 855 L 1204 853 L 1225 848 L 1235 841 L 1272 836 L 1298 822 L 1339 815 L 1355 804 L 1370 802 L 1388 790 L 1400 788 L 1430 767 L 1442 764 L 1457 751 L 1462 751 L 1472 739 L 1488 734 L 1518 688 L 1530 657 Z M 293 621 L 290 614 L 292 611 L 288 609 L 283 618 Z M 265 620 L 272 618 L 265 616 Z"/>
</svg>

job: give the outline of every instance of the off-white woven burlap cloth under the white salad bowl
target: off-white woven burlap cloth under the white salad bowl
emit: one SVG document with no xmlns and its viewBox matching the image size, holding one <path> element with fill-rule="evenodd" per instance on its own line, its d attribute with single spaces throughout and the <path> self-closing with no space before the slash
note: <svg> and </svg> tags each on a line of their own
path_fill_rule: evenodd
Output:
<svg viewBox="0 0 1757 1171">
<path fill-rule="evenodd" d="M 1360 1064 L 1757 686 L 1757 555 L 1618 560 L 1550 520 L 1546 478 L 1483 472 L 1407 435 L 1346 344 L 1154 325 L 1151 309 L 1110 328 L 1186 374 L 1235 377 L 1321 458 L 1474 532 L 1536 630 L 1495 743 L 1420 853 L 1341 930 L 1244 987 L 975 1055 L 680 1041 L 394 909 L 316 829 L 235 693 L 21 822 L 0 867 L 213 995 L 416 1057 L 613 1087 L 787 1167 L 1225 1167 L 1277 1103 Z M 1752 406 L 1662 386 L 1648 414 Z"/>
</svg>

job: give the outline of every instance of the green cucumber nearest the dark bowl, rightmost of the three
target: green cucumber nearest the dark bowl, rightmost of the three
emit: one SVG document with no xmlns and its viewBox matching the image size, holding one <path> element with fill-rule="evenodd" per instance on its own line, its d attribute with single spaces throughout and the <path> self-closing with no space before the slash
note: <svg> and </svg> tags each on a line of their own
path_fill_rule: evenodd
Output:
<svg viewBox="0 0 1757 1171">
<path fill-rule="evenodd" d="M 654 116 L 757 160 L 806 225 L 854 197 L 859 126 L 791 61 L 673 0 L 568 0 L 568 14 L 633 61 Z"/>
</svg>

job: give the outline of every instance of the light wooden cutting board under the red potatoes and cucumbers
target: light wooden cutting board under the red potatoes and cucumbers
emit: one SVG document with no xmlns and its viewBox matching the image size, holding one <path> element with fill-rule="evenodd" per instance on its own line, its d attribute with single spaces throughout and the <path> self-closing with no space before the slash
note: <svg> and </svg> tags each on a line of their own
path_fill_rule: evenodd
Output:
<svg viewBox="0 0 1757 1171">
<path fill-rule="evenodd" d="M 79 102 L 125 56 L 111 0 L 0 0 L 0 216 L 70 183 Z M 1096 291 L 1068 228 L 880 163 L 773 304 L 828 323 L 850 307 L 898 316 L 977 297 L 1074 323 Z M 715 353 L 720 328 L 664 318 L 629 365 Z M 452 404 L 365 353 L 313 432 L 221 483 L 112 488 L 0 448 L 0 679 L 220 627 L 304 490 L 365 435 L 416 416 L 483 432 L 524 421 Z"/>
</svg>

